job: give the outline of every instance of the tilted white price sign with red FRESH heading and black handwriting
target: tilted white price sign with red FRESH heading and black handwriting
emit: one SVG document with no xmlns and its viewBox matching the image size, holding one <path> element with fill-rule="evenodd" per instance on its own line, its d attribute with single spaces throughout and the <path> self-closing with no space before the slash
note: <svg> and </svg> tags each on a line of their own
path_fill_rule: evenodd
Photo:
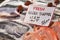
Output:
<svg viewBox="0 0 60 40">
<path fill-rule="evenodd" d="M 41 26 L 50 24 L 55 7 L 44 7 L 40 5 L 30 5 L 24 22 Z"/>
</svg>

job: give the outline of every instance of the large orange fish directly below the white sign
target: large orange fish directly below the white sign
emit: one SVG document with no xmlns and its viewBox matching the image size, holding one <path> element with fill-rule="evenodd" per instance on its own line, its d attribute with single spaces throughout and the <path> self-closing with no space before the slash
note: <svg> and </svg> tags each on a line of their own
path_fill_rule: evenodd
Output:
<svg viewBox="0 0 60 40">
<path fill-rule="evenodd" d="M 36 36 L 36 37 L 35 37 Z M 38 27 L 37 32 L 26 33 L 24 40 L 58 40 L 55 32 L 48 27 Z"/>
</svg>

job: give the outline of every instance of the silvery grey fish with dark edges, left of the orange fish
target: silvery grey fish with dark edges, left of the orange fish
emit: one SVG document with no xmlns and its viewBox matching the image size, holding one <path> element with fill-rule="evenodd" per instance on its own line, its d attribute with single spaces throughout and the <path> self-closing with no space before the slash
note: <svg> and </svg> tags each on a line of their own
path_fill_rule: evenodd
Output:
<svg viewBox="0 0 60 40">
<path fill-rule="evenodd" d="M 20 38 L 32 28 L 29 25 L 25 25 L 15 21 L 2 21 L 0 22 L 0 29 L 5 30 L 5 32 L 9 35 Z"/>
</svg>

